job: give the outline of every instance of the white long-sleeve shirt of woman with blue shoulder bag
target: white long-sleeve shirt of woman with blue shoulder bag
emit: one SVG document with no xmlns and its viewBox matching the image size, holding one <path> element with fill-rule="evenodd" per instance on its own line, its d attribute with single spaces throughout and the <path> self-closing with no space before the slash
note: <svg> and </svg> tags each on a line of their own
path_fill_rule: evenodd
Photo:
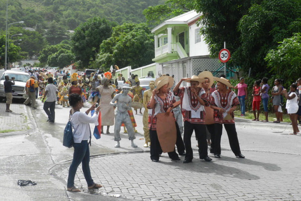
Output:
<svg viewBox="0 0 301 201">
<path fill-rule="evenodd" d="M 73 128 L 73 139 L 75 143 L 81 143 L 82 140 L 90 139 L 89 124 L 98 125 L 98 116 L 96 113 L 92 117 L 83 112 L 75 112 L 71 117 L 71 124 Z"/>
</svg>

